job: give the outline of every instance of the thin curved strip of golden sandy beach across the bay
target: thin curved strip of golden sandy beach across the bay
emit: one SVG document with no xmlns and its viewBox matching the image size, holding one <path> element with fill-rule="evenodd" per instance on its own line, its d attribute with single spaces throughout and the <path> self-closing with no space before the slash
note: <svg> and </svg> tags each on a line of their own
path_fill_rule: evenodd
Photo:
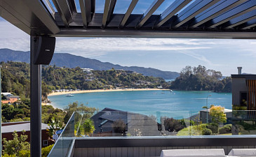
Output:
<svg viewBox="0 0 256 157">
<path fill-rule="evenodd" d="M 57 96 L 64 94 L 84 94 L 93 92 L 107 92 L 107 91 L 168 91 L 170 89 L 96 89 L 96 90 L 82 90 L 82 91 L 60 91 L 48 94 L 48 96 Z"/>
</svg>

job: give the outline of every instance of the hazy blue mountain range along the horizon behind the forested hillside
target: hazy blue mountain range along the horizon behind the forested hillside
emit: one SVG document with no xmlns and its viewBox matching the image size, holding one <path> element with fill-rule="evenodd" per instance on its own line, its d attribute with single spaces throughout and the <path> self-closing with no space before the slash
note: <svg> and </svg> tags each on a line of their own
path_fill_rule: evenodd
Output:
<svg viewBox="0 0 256 157">
<path fill-rule="evenodd" d="M 0 61 L 22 61 L 29 63 L 29 52 L 15 51 L 10 49 L 0 49 Z M 170 80 L 179 77 L 180 73 L 171 71 L 162 71 L 156 68 L 144 68 L 139 66 L 120 66 L 119 64 L 113 64 L 109 62 L 102 62 L 97 59 L 88 59 L 85 57 L 76 56 L 68 53 L 55 53 L 50 65 L 59 67 L 75 68 L 92 68 L 94 70 L 109 70 L 123 69 L 132 70 L 137 73 L 142 73 L 147 76 L 163 77 L 163 79 Z"/>
</svg>

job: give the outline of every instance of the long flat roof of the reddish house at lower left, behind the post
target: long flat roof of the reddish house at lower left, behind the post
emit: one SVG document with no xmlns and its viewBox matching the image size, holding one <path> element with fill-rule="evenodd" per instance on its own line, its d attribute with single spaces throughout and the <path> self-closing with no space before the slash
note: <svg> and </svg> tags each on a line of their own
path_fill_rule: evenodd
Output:
<svg viewBox="0 0 256 157">
<path fill-rule="evenodd" d="M 41 124 L 41 130 L 46 130 L 48 127 L 47 124 Z M 2 133 L 13 133 L 14 131 L 21 132 L 22 130 L 30 131 L 30 123 L 2 126 L 1 129 Z"/>
</svg>

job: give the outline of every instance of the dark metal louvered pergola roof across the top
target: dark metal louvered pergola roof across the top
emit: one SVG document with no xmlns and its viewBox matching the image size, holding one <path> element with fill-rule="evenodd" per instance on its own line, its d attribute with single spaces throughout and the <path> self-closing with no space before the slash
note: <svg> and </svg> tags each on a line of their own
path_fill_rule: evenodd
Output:
<svg viewBox="0 0 256 157">
<path fill-rule="evenodd" d="M 105 0 L 103 13 L 95 13 L 95 0 L 0 0 L 0 16 L 29 35 L 256 38 L 255 0 L 175 0 L 160 15 L 154 12 L 164 0 L 143 14 L 132 14 L 139 0 L 114 13 L 116 1 Z"/>
</svg>

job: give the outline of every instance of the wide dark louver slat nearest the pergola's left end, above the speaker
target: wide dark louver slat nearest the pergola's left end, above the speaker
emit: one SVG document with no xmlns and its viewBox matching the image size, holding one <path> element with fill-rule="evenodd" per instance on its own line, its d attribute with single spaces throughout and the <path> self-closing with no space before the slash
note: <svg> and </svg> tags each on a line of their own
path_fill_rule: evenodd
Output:
<svg viewBox="0 0 256 157">
<path fill-rule="evenodd" d="M 67 0 L 53 0 L 55 8 L 58 10 L 62 22 L 65 27 L 69 27 L 69 24 L 73 22 L 72 12 L 69 8 L 69 3 Z"/>
</svg>

